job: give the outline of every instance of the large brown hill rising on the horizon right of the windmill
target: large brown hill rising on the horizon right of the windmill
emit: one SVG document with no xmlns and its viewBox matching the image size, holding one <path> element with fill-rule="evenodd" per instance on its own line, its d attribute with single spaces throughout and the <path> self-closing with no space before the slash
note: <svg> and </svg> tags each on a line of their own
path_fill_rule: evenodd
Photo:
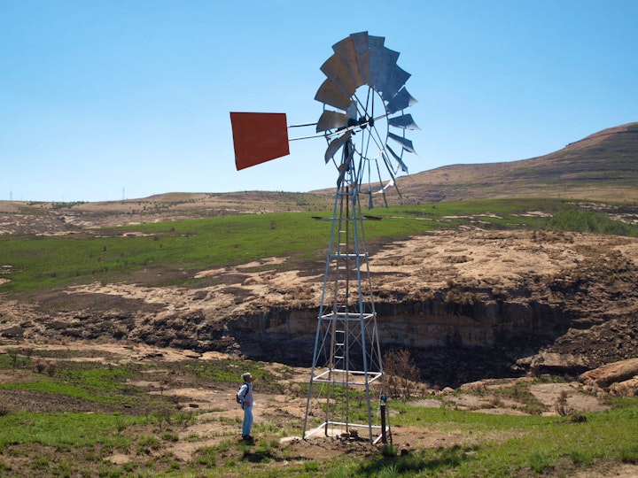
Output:
<svg viewBox="0 0 638 478">
<path fill-rule="evenodd" d="M 545 156 L 443 166 L 398 181 L 409 203 L 486 197 L 638 200 L 638 123 L 604 129 Z"/>
</svg>

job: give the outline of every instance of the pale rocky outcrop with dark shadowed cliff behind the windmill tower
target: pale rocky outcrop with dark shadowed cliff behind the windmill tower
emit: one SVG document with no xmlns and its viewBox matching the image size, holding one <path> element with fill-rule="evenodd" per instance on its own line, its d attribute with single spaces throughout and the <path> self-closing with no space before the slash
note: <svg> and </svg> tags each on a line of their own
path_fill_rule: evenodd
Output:
<svg viewBox="0 0 638 478">
<path fill-rule="evenodd" d="M 115 339 L 307 366 L 323 266 L 301 271 L 285 262 L 200 271 L 197 289 L 149 288 L 132 278 L 28 302 L 4 297 L 0 337 Z M 385 347 L 408 348 L 428 364 L 424 380 L 440 388 L 528 373 L 574 377 L 638 356 L 633 238 L 440 231 L 385 245 L 370 269 Z"/>
</svg>

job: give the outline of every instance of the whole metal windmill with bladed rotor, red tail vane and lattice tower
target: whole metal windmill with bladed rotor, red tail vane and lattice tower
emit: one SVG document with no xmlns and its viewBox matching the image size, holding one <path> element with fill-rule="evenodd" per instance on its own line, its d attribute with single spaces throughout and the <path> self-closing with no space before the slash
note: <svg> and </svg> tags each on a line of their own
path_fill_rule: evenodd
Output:
<svg viewBox="0 0 638 478">
<path fill-rule="evenodd" d="M 405 88 L 410 74 L 384 43 L 362 32 L 332 46 L 321 66 L 326 79 L 315 95 L 323 104 L 319 120 L 291 126 L 315 126 L 315 135 L 289 140 L 284 113 L 230 113 L 237 170 L 289 154 L 289 141 L 318 136 L 327 141 L 326 164 L 337 168 L 304 438 L 323 432 L 385 443 L 390 430 L 363 227 L 373 218 L 363 215 L 362 196 L 369 209 L 377 197 L 387 205 L 387 189 L 396 188 L 398 173 L 408 173 L 404 153 L 415 152 L 406 132 L 418 127 L 405 113 L 416 103 Z"/>
</svg>

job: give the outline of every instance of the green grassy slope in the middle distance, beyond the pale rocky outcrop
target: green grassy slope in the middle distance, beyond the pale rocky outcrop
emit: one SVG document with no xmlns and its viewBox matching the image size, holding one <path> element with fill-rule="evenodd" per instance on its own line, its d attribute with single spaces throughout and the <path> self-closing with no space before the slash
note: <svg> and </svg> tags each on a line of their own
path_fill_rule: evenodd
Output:
<svg viewBox="0 0 638 478">
<path fill-rule="evenodd" d="M 544 212 L 550 217 L 526 215 Z M 369 243 L 391 242 L 442 227 L 475 225 L 539 227 L 603 234 L 638 235 L 638 228 L 603 212 L 580 210 L 559 199 L 490 199 L 375 209 Z M 91 281 L 130 281 L 144 270 L 155 274 L 148 285 L 189 284 L 195 271 L 237 265 L 261 258 L 286 257 L 288 266 L 323 261 L 330 222 L 309 212 L 250 214 L 206 220 L 177 220 L 131 227 L 91 229 L 63 236 L 0 236 L 2 292 L 25 292 Z M 7 268 L 7 266 L 10 266 Z M 180 273 L 187 273 L 184 274 Z M 136 280 L 139 280 L 136 278 Z"/>
</svg>

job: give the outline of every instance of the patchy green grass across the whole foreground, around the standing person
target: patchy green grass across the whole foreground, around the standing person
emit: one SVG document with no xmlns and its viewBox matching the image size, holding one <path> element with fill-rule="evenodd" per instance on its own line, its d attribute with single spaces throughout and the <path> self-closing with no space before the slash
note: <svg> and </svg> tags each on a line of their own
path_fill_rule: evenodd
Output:
<svg viewBox="0 0 638 478">
<path fill-rule="evenodd" d="M 51 356 L 25 355 L 24 350 L 0 355 L 0 373 L 19 376 L 0 389 L 38 390 L 63 403 L 81 397 L 83 404 L 119 405 L 121 411 L 18 412 L 0 405 L 2 476 L 561 476 L 638 464 L 635 398 L 614 399 L 604 412 L 565 416 L 486 414 L 391 401 L 393 428 L 423 428 L 449 436 L 450 443 L 404 450 L 393 444 L 346 443 L 329 457 L 308 458 L 281 442 L 285 436 L 300 436 L 301 423 L 285 417 L 256 423 L 254 444 L 219 431 L 226 420 L 222 413 L 207 419 L 213 420 L 207 422 L 207 432 L 189 432 L 199 414 L 214 415 L 215 410 L 180 412 L 171 397 L 130 385 L 141 375 L 166 373 L 160 368 L 167 363 L 157 368 L 72 361 L 58 361 L 53 370 L 37 366 L 46 359 Z M 259 377 L 261 390 L 280 390 L 264 364 L 242 365 Z M 212 388 L 235 381 L 237 374 L 231 360 L 188 360 L 169 367 L 182 381 L 205 379 Z M 212 438 L 216 444 L 207 444 Z M 176 459 L 169 451 L 180 442 L 193 443 L 191 459 Z M 113 454 L 131 459 L 113 463 L 107 459 Z"/>
</svg>

